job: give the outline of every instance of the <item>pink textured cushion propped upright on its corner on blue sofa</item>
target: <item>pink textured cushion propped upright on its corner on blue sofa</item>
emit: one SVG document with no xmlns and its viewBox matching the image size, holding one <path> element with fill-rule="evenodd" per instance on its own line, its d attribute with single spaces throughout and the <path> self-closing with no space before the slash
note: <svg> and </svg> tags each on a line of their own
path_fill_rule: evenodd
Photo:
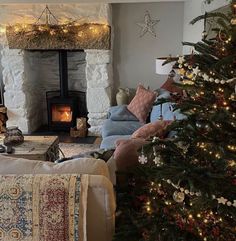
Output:
<svg viewBox="0 0 236 241">
<path fill-rule="evenodd" d="M 140 122 L 145 123 L 155 99 L 156 93 L 139 85 L 134 98 L 127 108 Z"/>
</svg>

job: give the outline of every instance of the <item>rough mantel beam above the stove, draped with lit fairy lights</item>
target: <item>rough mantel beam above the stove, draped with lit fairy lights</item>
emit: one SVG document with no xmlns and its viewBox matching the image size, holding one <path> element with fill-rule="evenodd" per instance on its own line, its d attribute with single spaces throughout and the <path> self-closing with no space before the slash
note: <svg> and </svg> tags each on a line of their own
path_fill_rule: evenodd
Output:
<svg viewBox="0 0 236 241">
<path fill-rule="evenodd" d="M 110 49 L 111 47 L 109 25 L 80 23 L 76 20 L 59 23 L 48 6 L 36 22 L 9 25 L 5 31 L 9 48 Z"/>
</svg>

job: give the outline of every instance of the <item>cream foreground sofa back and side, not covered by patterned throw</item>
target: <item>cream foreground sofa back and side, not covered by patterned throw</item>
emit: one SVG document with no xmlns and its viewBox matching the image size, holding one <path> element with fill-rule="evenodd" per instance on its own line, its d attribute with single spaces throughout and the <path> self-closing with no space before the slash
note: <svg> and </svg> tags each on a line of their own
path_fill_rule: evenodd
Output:
<svg viewBox="0 0 236 241">
<path fill-rule="evenodd" d="M 63 163 L 33 161 L 0 156 L 0 176 L 37 174 L 88 174 L 86 200 L 88 241 L 111 241 L 115 229 L 115 196 L 109 171 L 103 160 L 78 158 Z M 3 223 L 0 225 L 4 225 Z M 1 228 L 0 228 L 1 230 Z M 86 240 L 84 239 L 84 241 Z"/>
</svg>

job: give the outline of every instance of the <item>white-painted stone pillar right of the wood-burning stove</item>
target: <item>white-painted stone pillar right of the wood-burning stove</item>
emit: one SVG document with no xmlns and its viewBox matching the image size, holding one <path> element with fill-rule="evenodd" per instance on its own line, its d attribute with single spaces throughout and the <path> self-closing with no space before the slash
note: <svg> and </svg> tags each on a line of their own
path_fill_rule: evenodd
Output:
<svg viewBox="0 0 236 241">
<path fill-rule="evenodd" d="M 110 50 L 86 50 L 87 107 L 90 135 L 100 135 L 111 105 L 112 53 Z"/>
</svg>

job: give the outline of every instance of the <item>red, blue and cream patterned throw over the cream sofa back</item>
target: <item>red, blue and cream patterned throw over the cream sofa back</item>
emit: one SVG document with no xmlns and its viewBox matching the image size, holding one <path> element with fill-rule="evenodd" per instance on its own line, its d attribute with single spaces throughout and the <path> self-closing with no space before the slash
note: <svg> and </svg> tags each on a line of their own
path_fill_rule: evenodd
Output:
<svg viewBox="0 0 236 241">
<path fill-rule="evenodd" d="M 87 182 L 82 197 L 81 178 L 87 180 L 74 174 L 0 176 L 0 240 L 84 240 L 86 211 L 79 207 Z"/>
</svg>

